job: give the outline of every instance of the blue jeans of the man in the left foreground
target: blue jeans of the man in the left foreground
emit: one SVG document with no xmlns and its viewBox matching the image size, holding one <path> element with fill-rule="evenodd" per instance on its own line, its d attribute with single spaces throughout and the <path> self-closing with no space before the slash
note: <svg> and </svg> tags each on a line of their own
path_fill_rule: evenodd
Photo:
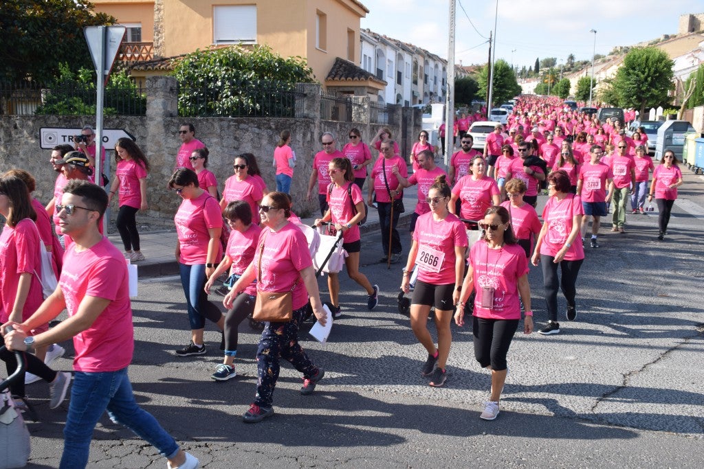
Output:
<svg viewBox="0 0 704 469">
<path fill-rule="evenodd" d="M 60 469 L 86 467 L 93 430 L 106 410 L 113 422 L 125 425 L 165 458 L 176 456 L 179 446 L 173 437 L 161 428 L 151 413 L 142 410 L 134 401 L 127 368 L 102 373 L 77 371 L 63 428 Z"/>
</svg>

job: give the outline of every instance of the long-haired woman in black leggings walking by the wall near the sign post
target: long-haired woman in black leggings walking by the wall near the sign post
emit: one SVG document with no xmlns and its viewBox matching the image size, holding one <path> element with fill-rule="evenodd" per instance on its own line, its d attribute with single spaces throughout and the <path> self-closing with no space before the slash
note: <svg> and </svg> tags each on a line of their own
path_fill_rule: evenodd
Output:
<svg viewBox="0 0 704 469">
<path fill-rule="evenodd" d="M 108 194 L 108 200 L 113 200 L 115 192 L 120 190 L 120 211 L 115 226 L 118 227 L 122 245 L 125 246 L 125 257 L 131 262 L 143 261 L 136 217 L 139 210 L 149 208 L 146 203 L 146 174 L 149 172 L 149 162 L 137 143 L 125 137 L 115 143 L 115 162 L 115 179 Z"/>
</svg>

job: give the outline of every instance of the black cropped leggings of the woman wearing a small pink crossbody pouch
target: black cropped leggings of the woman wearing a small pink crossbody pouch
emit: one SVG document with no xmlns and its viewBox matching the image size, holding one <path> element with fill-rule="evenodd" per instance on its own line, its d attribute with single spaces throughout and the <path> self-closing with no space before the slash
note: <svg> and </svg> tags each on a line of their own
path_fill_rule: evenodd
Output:
<svg viewBox="0 0 704 469">
<path fill-rule="evenodd" d="M 517 328 L 518 319 L 484 319 L 472 316 L 474 358 L 482 368 L 491 365 L 494 371 L 506 369 L 506 354 Z"/>
</svg>

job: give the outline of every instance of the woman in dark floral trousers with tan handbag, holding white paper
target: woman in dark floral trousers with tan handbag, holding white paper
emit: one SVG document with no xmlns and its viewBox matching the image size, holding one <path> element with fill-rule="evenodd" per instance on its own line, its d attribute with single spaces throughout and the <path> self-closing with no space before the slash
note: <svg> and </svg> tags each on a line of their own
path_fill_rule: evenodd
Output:
<svg viewBox="0 0 704 469">
<path fill-rule="evenodd" d="M 342 157 L 344 158 L 344 157 Z M 325 376 L 325 370 L 308 358 L 298 343 L 298 328 L 306 319 L 308 299 L 310 309 L 321 325 L 329 320 L 320 302 L 318 281 L 315 279 L 313 259 L 303 231 L 288 221 L 291 203 L 287 194 L 270 192 L 259 207 L 262 232 L 254 259 L 242 276 L 232 285 L 231 295 L 223 302 L 232 308 L 232 297 L 256 280 L 257 297 L 270 292 L 291 292 L 291 320 L 267 322 L 257 349 L 257 387 L 254 402 L 242 415 L 246 423 L 256 423 L 274 415 L 274 389 L 279 378 L 279 360 L 285 359 L 303 373 L 301 394 L 313 394 L 316 385 Z"/>
</svg>

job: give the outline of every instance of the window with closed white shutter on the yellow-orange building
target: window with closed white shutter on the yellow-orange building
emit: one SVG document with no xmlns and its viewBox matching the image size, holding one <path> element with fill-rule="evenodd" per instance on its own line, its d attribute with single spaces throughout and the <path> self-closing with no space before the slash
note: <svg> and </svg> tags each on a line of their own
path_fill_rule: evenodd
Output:
<svg viewBox="0 0 704 469">
<path fill-rule="evenodd" d="M 256 44 L 256 5 L 213 6 L 213 43 Z"/>
</svg>

